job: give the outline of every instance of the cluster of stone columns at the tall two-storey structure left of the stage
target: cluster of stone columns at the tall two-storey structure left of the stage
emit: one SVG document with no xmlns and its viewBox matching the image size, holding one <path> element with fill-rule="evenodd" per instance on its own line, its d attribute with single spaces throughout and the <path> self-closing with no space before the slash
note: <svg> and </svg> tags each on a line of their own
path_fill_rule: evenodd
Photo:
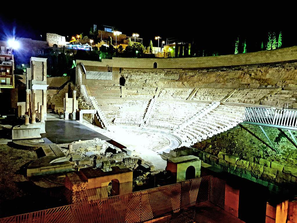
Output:
<svg viewBox="0 0 297 223">
<path fill-rule="evenodd" d="M 46 90 L 42 90 L 42 104 L 37 102 L 36 90 L 26 89 L 26 118 L 25 125 L 29 125 L 29 117 L 31 117 L 31 123 L 36 123 L 36 119 L 40 122 L 44 122 L 46 115 Z"/>
</svg>

